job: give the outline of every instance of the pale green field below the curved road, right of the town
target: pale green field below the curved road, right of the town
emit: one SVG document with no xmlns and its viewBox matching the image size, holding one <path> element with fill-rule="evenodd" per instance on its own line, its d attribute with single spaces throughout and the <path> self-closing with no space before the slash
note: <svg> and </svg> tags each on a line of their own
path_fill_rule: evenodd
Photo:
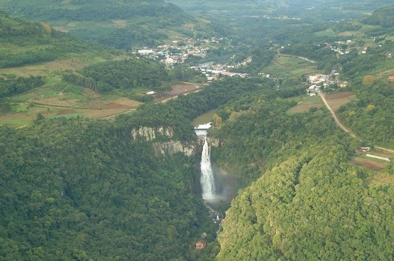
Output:
<svg viewBox="0 0 394 261">
<path fill-rule="evenodd" d="M 264 67 L 263 71 L 273 77 L 293 77 L 321 73 L 317 66 L 311 62 L 284 55 L 275 55 L 274 61 Z"/>
</svg>

